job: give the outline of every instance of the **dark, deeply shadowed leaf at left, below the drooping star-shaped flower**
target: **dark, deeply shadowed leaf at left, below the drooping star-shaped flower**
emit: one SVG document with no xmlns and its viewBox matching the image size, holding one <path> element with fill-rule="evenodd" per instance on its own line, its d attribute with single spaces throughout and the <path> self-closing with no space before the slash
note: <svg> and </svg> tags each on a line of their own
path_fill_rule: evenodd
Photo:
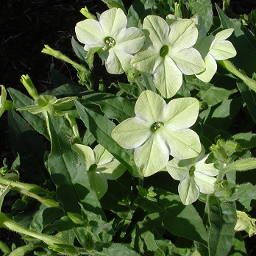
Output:
<svg viewBox="0 0 256 256">
<path fill-rule="evenodd" d="M 46 146 L 38 133 L 15 110 L 8 111 L 8 123 L 13 153 L 20 155 L 29 182 L 41 185 L 49 179 L 44 166 Z"/>
</svg>

